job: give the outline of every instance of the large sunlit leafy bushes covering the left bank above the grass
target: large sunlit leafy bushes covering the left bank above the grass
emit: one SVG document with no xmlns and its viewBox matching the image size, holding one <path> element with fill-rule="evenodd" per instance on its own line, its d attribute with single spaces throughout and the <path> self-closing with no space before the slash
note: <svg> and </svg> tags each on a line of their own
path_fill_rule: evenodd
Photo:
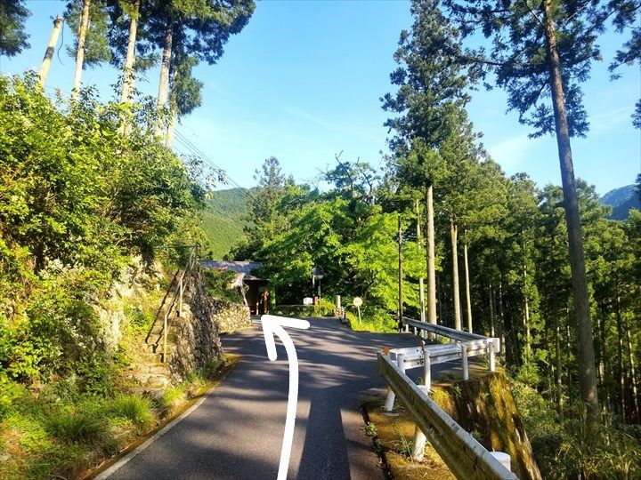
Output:
<svg viewBox="0 0 641 480">
<path fill-rule="evenodd" d="M 8 378 L 77 374 L 110 392 L 115 366 L 96 313 L 127 256 L 180 233 L 204 190 L 188 168 L 94 92 L 56 106 L 34 76 L 0 76 L 0 367 Z"/>
</svg>

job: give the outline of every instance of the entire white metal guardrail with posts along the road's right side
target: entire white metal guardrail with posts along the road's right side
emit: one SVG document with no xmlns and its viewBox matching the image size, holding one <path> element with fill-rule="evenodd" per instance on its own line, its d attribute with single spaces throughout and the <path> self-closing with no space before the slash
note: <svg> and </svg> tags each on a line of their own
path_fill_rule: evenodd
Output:
<svg viewBox="0 0 641 480">
<path fill-rule="evenodd" d="M 398 396 L 417 424 L 412 458 L 422 460 L 426 438 L 428 438 L 457 478 L 515 479 L 515 474 L 497 460 L 497 458 L 507 457 L 504 461 L 509 466 L 507 454 L 485 450 L 482 444 L 479 444 L 428 396 L 432 386 L 432 364 L 460 359 L 463 380 L 468 380 L 467 358 L 488 354 L 490 370 L 494 372 L 496 367 L 494 355 L 500 351 L 499 339 L 461 332 L 442 325 L 427 324 L 405 316 L 402 318 L 402 323 L 412 326 L 414 332 L 421 330 L 433 336 L 445 337 L 451 342 L 410 348 L 385 348 L 384 354 L 377 354 L 378 372 L 390 387 L 385 399 L 385 412 L 392 411 L 394 399 Z M 420 366 L 423 367 L 424 385 L 416 385 L 405 374 L 407 369 Z"/>
</svg>

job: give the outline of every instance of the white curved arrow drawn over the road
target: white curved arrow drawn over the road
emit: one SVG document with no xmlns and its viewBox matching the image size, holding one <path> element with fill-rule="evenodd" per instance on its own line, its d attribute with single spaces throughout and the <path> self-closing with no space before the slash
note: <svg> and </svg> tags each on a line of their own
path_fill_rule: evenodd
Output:
<svg viewBox="0 0 641 480">
<path fill-rule="evenodd" d="M 261 316 L 263 323 L 263 334 L 265 338 L 265 347 L 267 356 L 273 362 L 276 360 L 276 343 L 274 335 L 280 337 L 288 354 L 289 362 L 289 397 L 288 412 L 285 418 L 285 433 L 283 434 L 282 448 L 280 449 L 280 465 L 278 480 L 287 478 L 289 468 L 289 455 L 291 454 L 291 444 L 294 439 L 294 422 L 296 421 L 296 404 L 298 403 L 298 357 L 294 342 L 289 338 L 288 332 L 283 327 L 300 328 L 306 330 L 309 328 L 307 320 L 299 318 L 287 318 L 285 316 L 264 315 Z"/>
</svg>

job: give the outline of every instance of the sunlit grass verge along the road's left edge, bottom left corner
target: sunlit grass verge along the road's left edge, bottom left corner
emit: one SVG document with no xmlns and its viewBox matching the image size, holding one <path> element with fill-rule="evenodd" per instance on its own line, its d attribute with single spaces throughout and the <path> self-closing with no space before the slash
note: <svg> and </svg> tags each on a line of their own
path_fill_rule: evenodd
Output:
<svg viewBox="0 0 641 480">
<path fill-rule="evenodd" d="M 0 478 L 85 476 L 138 439 L 171 420 L 212 386 L 226 362 L 210 362 L 154 402 L 140 394 L 97 396 L 70 388 L 72 382 L 39 391 L 0 383 Z"/>
</svg>

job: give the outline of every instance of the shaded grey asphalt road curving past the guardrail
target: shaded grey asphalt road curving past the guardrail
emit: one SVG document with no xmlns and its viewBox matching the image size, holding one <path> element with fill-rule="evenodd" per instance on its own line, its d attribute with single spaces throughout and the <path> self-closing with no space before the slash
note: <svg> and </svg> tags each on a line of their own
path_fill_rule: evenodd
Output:
<svg viewBox="0 0 641 480">
<path fill-rule="evenodd" d="M 300 384 L 288 478 L 383 478 L 362 431 L 361 392 L 384 387 L 376 352 L 416 345 L 407 334 L 356 333 L 329 319 L 307 331 L 289 329 Z M 270 362 L 260 324 L 223 337 L 241 356 L 229 377 L 187 418 L 110 478 L 275 479 L 285 428 L 288 362 L 277 340 Z M 418 373 L 417 373 L 418 374 Z"/>
</svg>

